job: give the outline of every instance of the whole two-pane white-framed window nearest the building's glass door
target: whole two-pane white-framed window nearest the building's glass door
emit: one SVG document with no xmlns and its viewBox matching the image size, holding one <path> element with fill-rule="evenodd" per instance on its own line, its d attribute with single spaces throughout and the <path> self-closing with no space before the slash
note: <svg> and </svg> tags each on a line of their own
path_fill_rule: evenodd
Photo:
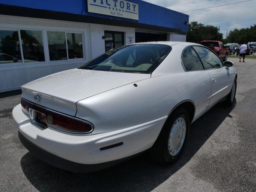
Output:
<svg viewBox="0 0 256 192">
<path fill-rule="evenodd" d="M 84 58 L 81 33 L 47 31 L 50 61 Z"/>
</svg>

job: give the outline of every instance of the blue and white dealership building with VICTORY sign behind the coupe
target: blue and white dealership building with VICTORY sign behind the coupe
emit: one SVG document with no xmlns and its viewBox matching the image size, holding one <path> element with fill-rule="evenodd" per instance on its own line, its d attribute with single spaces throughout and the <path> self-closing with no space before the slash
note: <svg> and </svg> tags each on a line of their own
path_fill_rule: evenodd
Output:
<svg viewBox="0 0 256 192">
<path fill-rule="evenodd" d="M 135 42 L 186 41 L 188 15 L 142 0 L 0 0 L 0 92 Z"/>
</svg>

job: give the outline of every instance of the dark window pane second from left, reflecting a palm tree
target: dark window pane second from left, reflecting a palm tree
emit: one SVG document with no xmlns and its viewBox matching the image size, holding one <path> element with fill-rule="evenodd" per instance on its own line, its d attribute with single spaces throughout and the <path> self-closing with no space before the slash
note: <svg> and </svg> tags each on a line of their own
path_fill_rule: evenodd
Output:
<svg viewBox="0 0 256 192">
<path fill-rule="evenodd" d="M 20 30 L 24 62 L 45 61 L 42 31 Z"/>
</svg>

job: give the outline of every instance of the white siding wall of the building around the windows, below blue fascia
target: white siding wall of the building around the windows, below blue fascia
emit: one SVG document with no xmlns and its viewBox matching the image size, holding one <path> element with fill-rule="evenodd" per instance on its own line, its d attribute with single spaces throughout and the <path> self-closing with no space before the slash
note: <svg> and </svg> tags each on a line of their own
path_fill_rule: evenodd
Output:
<svg viewBox="0 0 256 192">
<path fill-rule="evenodd" d="M 44 33 L 46 33 L 46 30 L 82 32 L 84 59 L 50 62 L 47 53 L 48 48 L 45 47 L 46 62 L 1 64 L 0 92 L 20 89 L 20 86 L 32 80 L 63 70 L 77 68 L 92 58 L 103 54 L 105 52 L 104 39 L 102 39 L 104 30 L 124 32 L 125 44 L 128 43 L 128 36 L 133 36 L 132 43 L 135 42 L 134 28 L 0 15 L 0 30 L 6 29 L 38 29 L 43 30 Z M 46 46 L 47 40 L 44 40 L 44 43 L 44 46 Z"/>
</svg>

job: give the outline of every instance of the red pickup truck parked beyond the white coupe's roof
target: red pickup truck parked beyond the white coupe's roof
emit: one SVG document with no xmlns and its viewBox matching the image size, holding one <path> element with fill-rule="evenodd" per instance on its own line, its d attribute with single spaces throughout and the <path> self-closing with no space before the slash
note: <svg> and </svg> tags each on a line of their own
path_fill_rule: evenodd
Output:
<svg viewBox="0 0 256 192">
<path fill-rule="evenodd" d="M 228 49 L 224 47 L 222 42 L 203 40 L 200 44 L 213 50 L 223 61 L 227 60 Z"/>
</svg>

